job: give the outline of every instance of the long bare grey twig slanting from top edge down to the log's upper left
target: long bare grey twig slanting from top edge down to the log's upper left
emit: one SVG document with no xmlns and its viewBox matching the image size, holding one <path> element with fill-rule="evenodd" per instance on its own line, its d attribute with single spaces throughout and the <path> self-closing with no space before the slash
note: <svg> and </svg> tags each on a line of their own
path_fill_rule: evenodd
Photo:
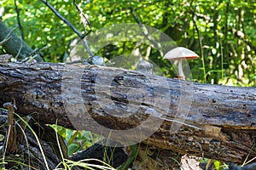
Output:
<svg viewBox="0 0 256 170">
<path fill-rule="evenodd" d="M 69 26 L 78 36 L 79 38 L 83 41 L 84 43 L 84 48 L 86 50 L 86 52 L 91 56 L 93 56 L 94 54 L 92 54 L 92 52 L 90 51 L 89 45 L 87 43 L 87 41 L 84 39 L 84 35 L 81 34 L 67 19 L 65 19 L 61 14 L 58 13 L 58 11 L 56 11 L 56 9 L 49 4 L 46 0 L 41 0 L 42 3 L 44 3 L 47 7 L 50 8 L 50 10 L 57 15 L 61 20 L 63 20 L 67 26 Z"/>
</svg>

